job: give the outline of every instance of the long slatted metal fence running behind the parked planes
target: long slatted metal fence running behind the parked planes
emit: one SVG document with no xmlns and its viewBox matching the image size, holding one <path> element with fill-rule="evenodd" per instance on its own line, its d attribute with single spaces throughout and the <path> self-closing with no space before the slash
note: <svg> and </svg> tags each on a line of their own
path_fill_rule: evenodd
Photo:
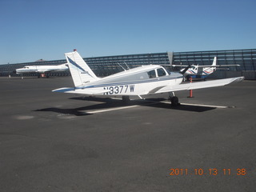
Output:
<svg viewBox="0 0 256 192">
<path fill-rule="evenodd" d="M 80 53 L 82 56 L 86 53 Z M 208 50 L 208 51 L 190 51 L 190 52 L 164 52 L 152 54 L 127 54 L 106 57 L 84 58 L 86 63 L 94 70 L 98 77 L 104 77 L 115 74 L 124 69 L 134 68 L 142 65 L 162 65 L 171 66 L 172 64 L 187 66 L 211 65 L 214 57 L 217 57 L 218 65 L 239 64 L 240 66 L 226 67 L 224 70 L 217 70 L 210 74 L 210 78 L 231 78 L 244 76 L 246 79 L 256 79 L 256 49 L 245 50 Z M 23 66 L 40 66 L 40 65 L 60 65 L 65 63 L 65 59 L 37 62 L 25 62 L 15 64 L 0 65 L 0 76 L 18 76 L 12 72 Z M 178 70 L 173 68 L 171 70 Z M 37 74 L 23 74 L 23 76 L 36 76 Z M 70 71 L 53 72 L 50 76 L 69 76 Z"/>
</svg>

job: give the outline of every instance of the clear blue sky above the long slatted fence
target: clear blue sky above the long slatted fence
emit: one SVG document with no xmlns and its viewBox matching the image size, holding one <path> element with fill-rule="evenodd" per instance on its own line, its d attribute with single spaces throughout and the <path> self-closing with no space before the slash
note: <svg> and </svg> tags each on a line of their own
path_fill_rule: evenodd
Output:
<svg viewBox="0 0 256 192">
<path fill-rule="evenodd" d="M 0 0 L 0 64 L 256 48 L 255 0 Z"/>
</svg>

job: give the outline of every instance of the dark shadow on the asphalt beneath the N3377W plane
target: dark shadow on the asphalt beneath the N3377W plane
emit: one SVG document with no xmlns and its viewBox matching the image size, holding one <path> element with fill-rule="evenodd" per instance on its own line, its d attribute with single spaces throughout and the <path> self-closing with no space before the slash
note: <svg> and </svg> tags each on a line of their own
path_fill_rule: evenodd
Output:
<svg viewBox="0 0 256 192">
<path fill-rule="evenodd" d="M 186 110 L 192 112 L 205 112 L 207 110 L 214 110 L 215 107 L 207 107 L 207 106 L 190 106 L 180 105 L 180 106 L 170 106 L 170 103 L 162 102 L 165 99 L 157 98 L 157 99 L 146 99 L 146 100 L 133 100 L 128 103 L 122 102 L 122 100 L 112 99 L 112 98 L 70 98 L 76 100 L 86 100 L 93 102 L 102 102 L 95 105 L 90 106 L 82 106 L 74 109 L 61 109 L 57 107 L 50 107 L 45 109 L 39 109 L 34 111 L 46 111 L 46 112 L 54 112 L 58 114 L 72 114 L 75 116 L 85 116 L 91 114 L 89 111 L 93 110 L 107 110 L 115 107 L 122 106 L 150 106 L 154 108 L 162 108 L 162 109 L 170 109 L 170 110 Z M 88 113 L 86 112 L 88 111 Z"/>
</svg>

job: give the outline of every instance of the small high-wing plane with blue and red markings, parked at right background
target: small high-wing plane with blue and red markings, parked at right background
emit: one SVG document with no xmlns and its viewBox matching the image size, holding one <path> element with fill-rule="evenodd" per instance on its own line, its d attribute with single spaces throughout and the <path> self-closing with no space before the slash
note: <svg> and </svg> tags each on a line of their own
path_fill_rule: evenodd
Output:
<svg viewBox="0 0 256 192">
<path fill-rule="evenodd" d="M 217 57 L 214 57 L 214 62 L 211 66 L 194 66 L 191 65 L 189 70 L 186 70 L 184 76 L 189 80 L 190 78 L 202 78 L 206 79 L 209 74 L 214 73 L 217 67 L 225 67 L 225 66 L 240 66 L 240 65 L 216 65 Z M 182 66 L 182 65 L 172 65 L 172 66 Z M 182 68 L 180 71 L 182 72 L 185 68 Z"/>
</svg>

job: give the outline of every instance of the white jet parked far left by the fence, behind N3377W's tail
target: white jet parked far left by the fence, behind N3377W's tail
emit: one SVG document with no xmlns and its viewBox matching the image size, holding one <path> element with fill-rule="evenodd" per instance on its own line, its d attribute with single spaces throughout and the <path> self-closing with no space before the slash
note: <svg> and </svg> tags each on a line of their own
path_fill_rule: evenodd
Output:
<svg viewBox="0 0 256 192">
<path fill-rule="evenodd" d="M 24 66 L 23 68 L 14 70 L 14 74 L 38 73 L 38 78 L 40 78 L 40 74 L 46 74 L 46 77 L 48 78 L 50 72 L 64 71 L 68 69 L 68 63 L 64 63 L 58 66 Z"/>
</svg>

